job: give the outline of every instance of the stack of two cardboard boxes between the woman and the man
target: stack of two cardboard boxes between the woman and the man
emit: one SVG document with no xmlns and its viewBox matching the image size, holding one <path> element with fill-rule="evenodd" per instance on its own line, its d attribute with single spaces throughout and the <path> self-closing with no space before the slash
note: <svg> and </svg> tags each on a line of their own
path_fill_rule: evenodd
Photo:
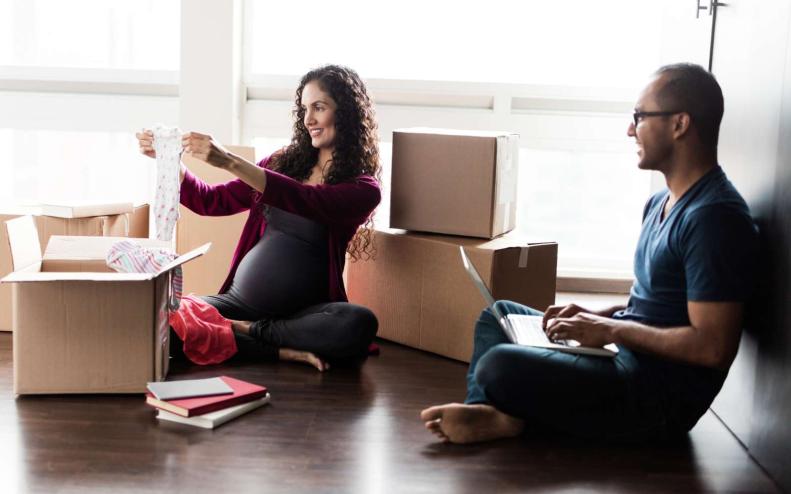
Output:
<svg viewBox="0 0 791 494">
<path fill-rule="evenodd" d="M 393 133 L 390 224 L 415 232 L 377 230 L 376 258 L 348 269 L 349 299 L 373 310 L 380 337 L 469 361 L 486 303 L 459 246 L 496 299 L 541 310 L 554 303 L 557 244 L 507 234 L 514 228 L 517 157 L 515 134 Z"/>
</svg>

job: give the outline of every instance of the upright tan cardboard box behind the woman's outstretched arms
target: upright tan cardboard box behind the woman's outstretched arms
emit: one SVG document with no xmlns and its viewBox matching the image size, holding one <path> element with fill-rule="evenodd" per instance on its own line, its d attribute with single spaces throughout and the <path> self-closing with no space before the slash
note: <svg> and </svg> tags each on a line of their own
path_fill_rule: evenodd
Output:
<svg viewBox="0 0 791 494">
<path fill-rule="evenodd" d="M 255 161 L 255 149 L 226 146 L 232 153 Z M 208 184 L 225 183 L 236 177 L 191 156 L 183 157 L 189 170 Z M 206 242 L 212 243 L 211 252 L 184 266 L 184 293 L 213 295 L 228 276 L 236 244 L 247 221 L 248 212 L 233 216 L 200 216 L 181 206 L 181 217 L 176 227 L 176 249 L 186 252 Z"/>
</svg>

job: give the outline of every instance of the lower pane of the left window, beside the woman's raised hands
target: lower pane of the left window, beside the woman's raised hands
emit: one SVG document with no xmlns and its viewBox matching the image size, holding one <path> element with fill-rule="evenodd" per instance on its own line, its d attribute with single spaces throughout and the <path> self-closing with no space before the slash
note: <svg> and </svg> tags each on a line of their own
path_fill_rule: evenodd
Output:
<svg viewBox="0 0 791 494">
<path fill-rule="evenodd" d="M 150 96 L 0 92 L 0 108 L 3 205 L 147 200 L 134 132 L 178 120 L 175 98 Z"/>
</svg>

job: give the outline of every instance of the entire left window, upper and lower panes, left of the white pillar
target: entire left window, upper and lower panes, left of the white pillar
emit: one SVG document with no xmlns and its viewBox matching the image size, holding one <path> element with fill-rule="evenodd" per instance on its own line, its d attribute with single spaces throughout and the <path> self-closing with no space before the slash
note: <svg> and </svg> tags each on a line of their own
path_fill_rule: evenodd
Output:
<svg viewBox="0 0 791 494">
<path fill-rule="evenodd" d="M 0 204 L 149 200 L 134 132 L 178 121 L 180 22 L 178 0 L 0 0 Z"/>
</svg>

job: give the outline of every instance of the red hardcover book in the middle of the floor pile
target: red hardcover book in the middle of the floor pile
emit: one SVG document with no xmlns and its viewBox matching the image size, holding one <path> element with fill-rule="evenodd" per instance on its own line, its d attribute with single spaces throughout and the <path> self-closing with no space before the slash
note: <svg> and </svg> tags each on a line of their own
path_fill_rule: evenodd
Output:
<svg viewBox="0 0 791 494">
<path fill-rule="evenodd" d="M 240 381 L 228 376 L 220 376 L 220 379 L 233 389 L 231 395 L 219 396 L 200 396 L 197 398 L 182 398 L 179 400 L 158 400 L 153 394 L 146 393 L 146 403 L 149 405 L 167 410 L 168 412 L 181 415 L 182 417 L 194 417 L 205 413 L 222 410 L 234 405 L 241 405 L 248 401 L 253 401 L 266 396 L 267 389 L 264 386 Z"/>
</svg>

